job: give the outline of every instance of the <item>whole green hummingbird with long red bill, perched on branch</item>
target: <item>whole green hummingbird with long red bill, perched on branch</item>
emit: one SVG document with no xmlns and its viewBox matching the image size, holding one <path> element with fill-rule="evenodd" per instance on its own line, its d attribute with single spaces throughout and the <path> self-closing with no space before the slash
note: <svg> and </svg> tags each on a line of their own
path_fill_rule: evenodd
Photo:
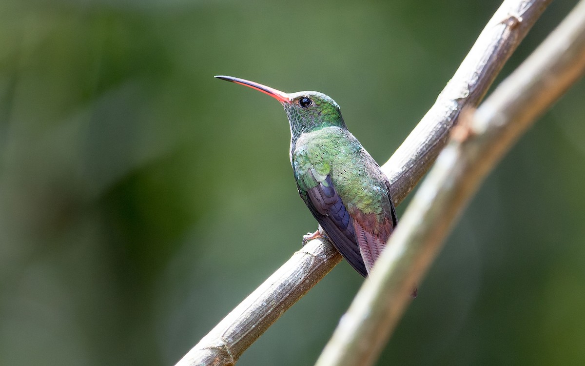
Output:
<svg viewBox="0 0 585 366">
<path fill-rule="evenodd" d="M 283 93 L 237 77 L 215 77 L 266 93 L 283 105 L 298 193 L 319 223 L 304 242 L 325 236 L 357 272 L 367 276 L 398 221 L 390 182 L 347 131 L 339 105 L 317 91 Z"/>
</svg>

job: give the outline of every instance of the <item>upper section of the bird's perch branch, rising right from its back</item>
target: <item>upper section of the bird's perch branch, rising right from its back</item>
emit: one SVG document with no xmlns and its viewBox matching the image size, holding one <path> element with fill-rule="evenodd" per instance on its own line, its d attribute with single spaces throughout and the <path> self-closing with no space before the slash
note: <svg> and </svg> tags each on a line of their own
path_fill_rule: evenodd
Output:
<svg viewBox="0 0 585 366">
<path fill-rule="evenodd" d="M 400 203 L 445 146 L 463 107 L 476 107 L 536 19 L 552 0 L 506 0 L 494 13 L 435 104 L 382 170 Z"/>
</svg>

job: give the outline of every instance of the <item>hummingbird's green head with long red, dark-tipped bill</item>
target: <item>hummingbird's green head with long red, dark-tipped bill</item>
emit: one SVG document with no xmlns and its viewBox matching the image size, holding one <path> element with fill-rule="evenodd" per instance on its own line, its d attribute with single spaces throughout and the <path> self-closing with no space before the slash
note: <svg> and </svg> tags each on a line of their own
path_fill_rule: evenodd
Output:
<svg viewBox="0 0 585 366">
<path fill-rule="evenodd" d="M 284 93 L 266 85 L 237 77 L 216 76 L 216 78 L 246 85 L 280 101 L 287 112 L 293 139 L 298 138 L 304 132 L 315 131 L 324 127 L 338 126 L 346 128 L 343 117 L 341 117 L 339 105 L 330 97 L 318 91 Z"/>
</svg>

